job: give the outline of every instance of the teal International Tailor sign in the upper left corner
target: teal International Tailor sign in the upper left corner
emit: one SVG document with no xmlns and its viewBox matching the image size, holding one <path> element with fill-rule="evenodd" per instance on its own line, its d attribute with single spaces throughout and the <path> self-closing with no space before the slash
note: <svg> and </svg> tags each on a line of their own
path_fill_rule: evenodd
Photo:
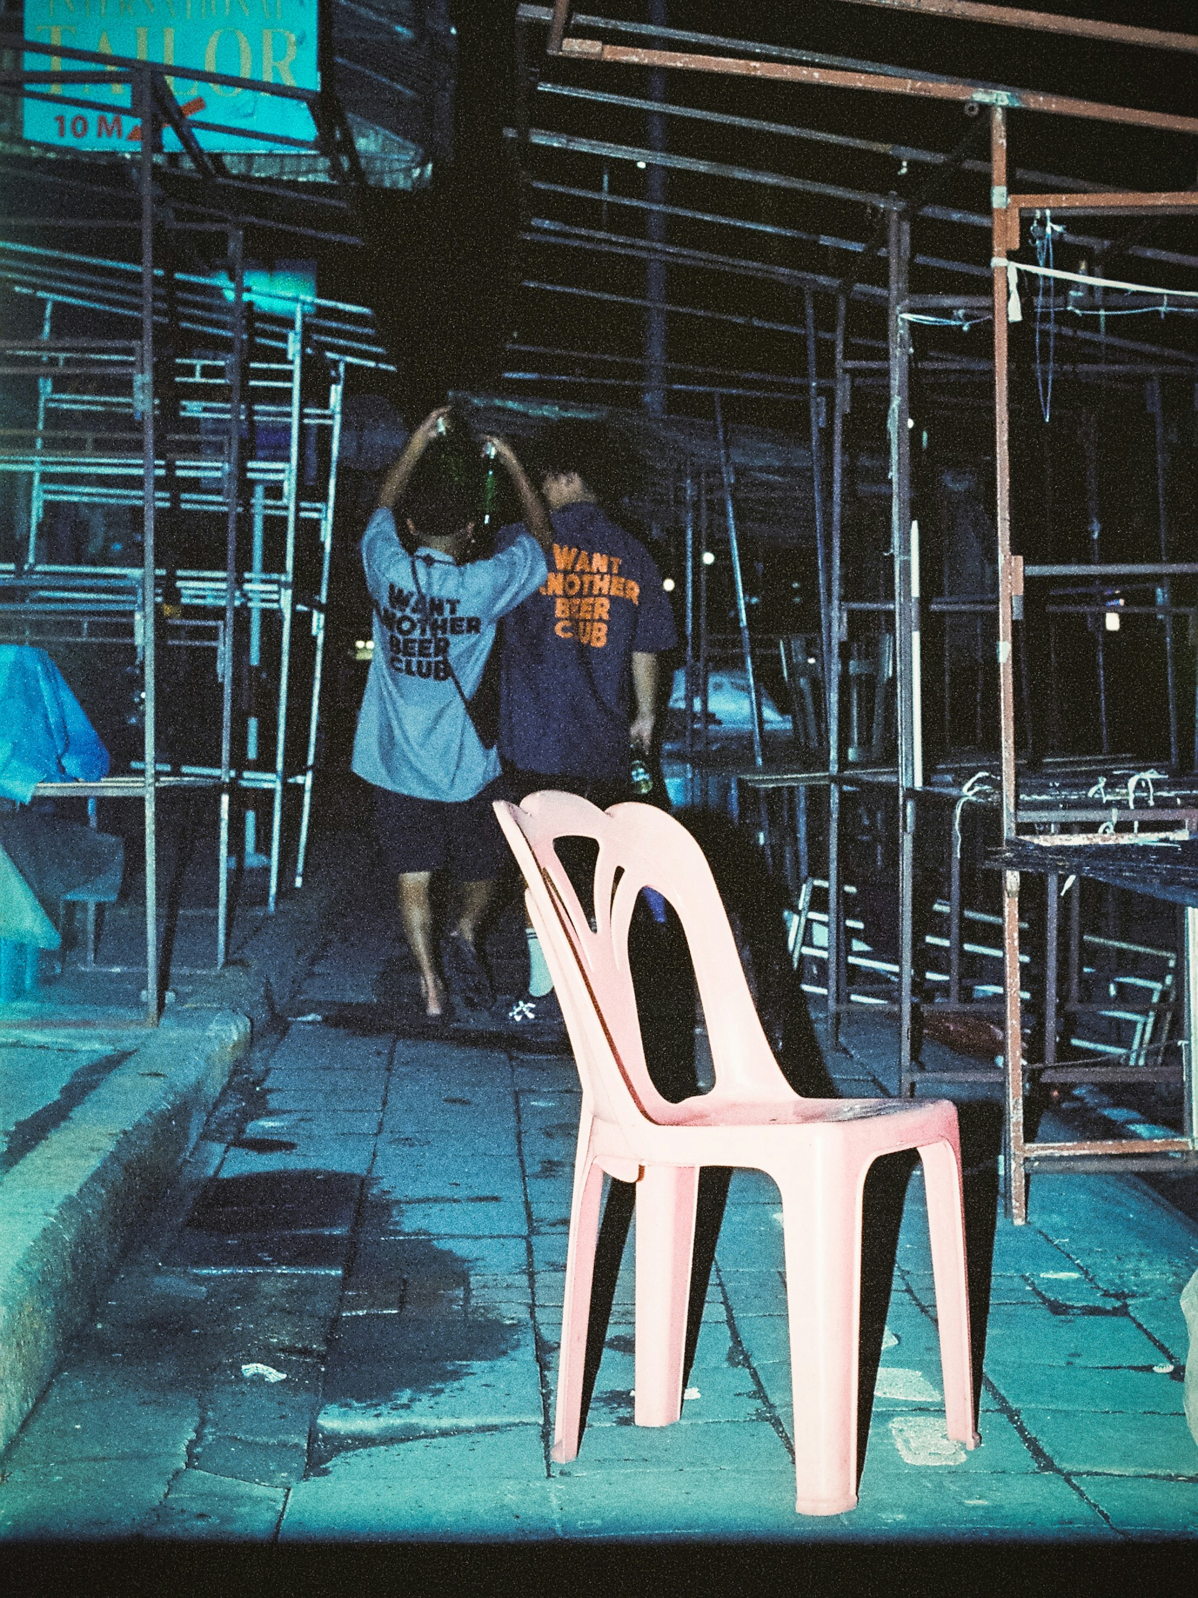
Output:
<svg viewBox="0 0 1198 1598">
<path fill-rule="evenodd" d="M 187 69 L 316 89 L 316 6 L 318 0 L 26 0 L 26 38 L 177 67 L 169 83 L 187 120 L 198 123 L 196 144 L 240 153 L 286 150 L 270 137 L 212 133 L 203 123 L 311 139 L 307 105 L 252 88 L 196 83 Z M 35 72 L 88 69 L 83 61 L 42 54 L 27 54 L 24 66 Z M 24 101 L 26 139 L 75 150 L 137 149 L 141 121 L 133 115 L 128 83 L 38 85 L 37 93 L 46 97 Z M 180 149 L 169 128 L 163 129 L 163 149 Z"/>
</svg>

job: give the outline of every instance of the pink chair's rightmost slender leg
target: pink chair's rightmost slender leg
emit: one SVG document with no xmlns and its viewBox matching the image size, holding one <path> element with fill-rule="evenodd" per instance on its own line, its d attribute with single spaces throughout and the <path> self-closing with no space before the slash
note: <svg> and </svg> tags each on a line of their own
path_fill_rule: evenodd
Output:
<svg viewBox="0 0 1198 1598">
<path fill-rule="evenodd" d="M 970 1283 L 965 1269 L 965 1213 L 960 1152 L 950 1143 L 920 1149 L 941 1334 L 944 1419 L 949 1437 L 966 1448 L 981 1438 L 973 1425 L 973 1354 L 970 1349 Z"/>
</svg>

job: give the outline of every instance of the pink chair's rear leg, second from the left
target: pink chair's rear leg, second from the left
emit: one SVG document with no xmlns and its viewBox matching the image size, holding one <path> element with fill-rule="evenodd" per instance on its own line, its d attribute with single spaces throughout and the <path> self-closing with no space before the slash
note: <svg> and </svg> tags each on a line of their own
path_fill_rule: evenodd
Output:
<svg viewBox="0 0 1198 1598">
<path fill-rule="evenodd" d="M 636 1187 L 637 1425 L 682 1414 L 698 1167 L 647 1165 Z"/>
</svg>

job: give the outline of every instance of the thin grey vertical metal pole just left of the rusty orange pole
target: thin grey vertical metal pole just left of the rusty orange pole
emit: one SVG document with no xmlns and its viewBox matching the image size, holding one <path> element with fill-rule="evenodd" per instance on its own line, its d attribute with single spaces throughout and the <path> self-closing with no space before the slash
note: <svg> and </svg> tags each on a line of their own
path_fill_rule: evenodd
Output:
<svg viewBox="0 0 1198 1598">
<path fill-rule="evenodd" d="M 910 221 L 898 211 L 888 217 L 890 267 L 890 550 L 895 561 L 895 700 L 898 722 L 899 813 L 899 1093 L 914 1093 L 912 1080 L 912 888 L 915 865 L 915 727 L 912 698 L 910 620 L 910 323 L 907 264 Z"/>
</svg>

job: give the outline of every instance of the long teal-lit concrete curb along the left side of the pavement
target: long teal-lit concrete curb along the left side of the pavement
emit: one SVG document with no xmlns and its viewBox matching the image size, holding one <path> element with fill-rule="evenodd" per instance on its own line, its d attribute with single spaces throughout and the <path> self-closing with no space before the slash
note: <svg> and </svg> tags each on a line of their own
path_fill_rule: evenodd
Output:
<svg viewBox="0 0 1198 1598">
<path fill-rule="evenodd" d="M 168 1192 L 233 1064 L 286 1010 L 353 890 L 366 845 L 323 842 L 311 887 L 284 900 L 236 962 L 169 1007 L 157 1031 L 89 1032 L 133 1053 L 0 1179 L 0 1449 Z M 334 850 L 335 869 L 321 873 Z M 22 1015 L 11 1021 L 19 1032 Z M 35 1036 L 45 1043 L 50 1031 Z"/>
</svg>

